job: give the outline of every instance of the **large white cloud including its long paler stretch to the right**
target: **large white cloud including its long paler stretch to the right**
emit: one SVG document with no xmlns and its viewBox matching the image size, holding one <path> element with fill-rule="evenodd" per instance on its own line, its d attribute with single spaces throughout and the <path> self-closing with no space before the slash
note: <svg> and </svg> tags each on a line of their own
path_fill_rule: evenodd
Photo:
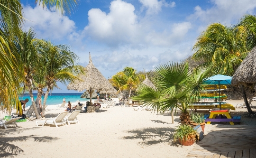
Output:
<svg viewBox="0 0 256 158">
<path fill-rule="evenodd" d="M 159 25 L 157 21 L 152 23 L 143 17 L 138 21 L 134 6 L 121 0 L 111 2 L 109 8 L 108 14 L 98 8 L 90 10 L 85 32 L 91 39 L 111 47 L 126 45 L 142 49 L 152 44 L 170 46 L 184 39 L 191 29 L 189 22 L 170 25 L 167 21 Z"/>
</svg>

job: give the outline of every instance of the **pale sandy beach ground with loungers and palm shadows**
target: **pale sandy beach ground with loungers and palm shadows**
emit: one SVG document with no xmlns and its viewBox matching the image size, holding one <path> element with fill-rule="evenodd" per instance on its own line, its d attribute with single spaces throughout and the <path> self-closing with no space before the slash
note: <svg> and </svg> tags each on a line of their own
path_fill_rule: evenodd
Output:
<svg viewBox="0 0 256 158">
<path fill-rule="evenodd" d="M 243 103 L 226 101 L 233 105 Z M 255 110 L 256 101 L 252 104 Z M 55 117 L 65 110 L 55 107 L 48 106 L 45 117 Z M 231 113 L 242 115 L 241 125 L 256 125 L 255 118 L 243 115 L 246 108 Z M 175 115 L 175 123 L 171 124 L 168 113 L 158 115 L 115 106 L 102 108 L 100 113 L 80 113 L 79 124 L 59 128 L 36 127 L 35 121 L 20 122 L 19 128 L 0 128 L 0 157 L 186 157 L 196 144 L 180 146 L 170 140 L 179 125 L 179 113 Z M 206 125 L 205 134 L 215 126 Z"/>
</svg>

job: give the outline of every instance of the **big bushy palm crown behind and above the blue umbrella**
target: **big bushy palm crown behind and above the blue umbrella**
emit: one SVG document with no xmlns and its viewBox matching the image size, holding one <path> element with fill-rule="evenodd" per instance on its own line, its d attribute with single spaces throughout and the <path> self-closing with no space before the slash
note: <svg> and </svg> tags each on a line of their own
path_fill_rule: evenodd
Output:
<svg viewBox="0 0 256 158">
<path fill-rule="evenodd" d="M 212 75 L 232 76 L 235 69 L 246 57 L 246 29 L 244 26 L 226 27 L 211 24 L 199 36 L 194 45 L 194 59 L 204 59 L 202 66 L 213 66 Z"/>
</svg>

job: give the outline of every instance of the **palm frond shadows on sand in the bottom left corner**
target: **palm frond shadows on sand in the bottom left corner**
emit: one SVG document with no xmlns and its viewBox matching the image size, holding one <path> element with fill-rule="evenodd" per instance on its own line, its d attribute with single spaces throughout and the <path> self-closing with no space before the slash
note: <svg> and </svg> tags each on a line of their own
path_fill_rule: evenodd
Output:
<svg viewBox="0 0 256 158">
<path fill-rule="evenodd" d="M 30 130 L 30 129 L 26 129 Z M 1 133 L 0 137 L 0 157 L 14 157 L 14 155 L 21 154 L 24 151 L 19 146 L 12 144 L 17 141 L 26 141 L 33 139 L 34 142 L 51 142 L 52 140 L 57 140 L 57 137 L 48 137 L 43 136 L 39 137 L 36 135 L 20 136 L 20 137 L 3 137 L 3 135 L 10 136 L 12 134 L 21 133 L 23 130 L 19 129 L 18 131 L 6 131 L 6 133 Z"/>
</svg>

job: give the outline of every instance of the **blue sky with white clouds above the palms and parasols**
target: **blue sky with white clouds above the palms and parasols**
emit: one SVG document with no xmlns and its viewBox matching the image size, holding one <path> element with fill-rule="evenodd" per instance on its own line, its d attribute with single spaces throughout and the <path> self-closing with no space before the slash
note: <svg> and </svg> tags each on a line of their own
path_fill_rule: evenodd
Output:
<svg viewBox="0 0 256 158">
<path fill-rule="evenodd" d="M 68 44 L 87 66 L 89 52 L 105 78 L 124 67 L 150 71 L 160 64 L 193 54 L 196 39 L 207 25 L 232 26 L 245 14 L 255 15 L 256 0 L 80 0 L 69 15 L 21 0 L 24 30 L 36 38 Z M 77 92 L 67 90 L 53 92 Z"/>
</svg>

